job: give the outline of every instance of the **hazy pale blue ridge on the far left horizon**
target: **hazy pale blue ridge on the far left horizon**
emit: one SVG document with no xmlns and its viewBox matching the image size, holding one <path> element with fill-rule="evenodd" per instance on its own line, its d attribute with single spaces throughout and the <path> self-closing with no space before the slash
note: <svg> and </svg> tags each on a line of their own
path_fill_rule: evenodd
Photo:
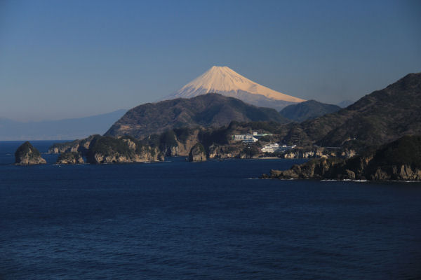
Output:
<svg viewBox="0 0 421 280">
<path fill-rule="evenodd" d="M 18 122 L 0 118 L 0 141 L 82 139 L 91 134 L 103 134 L 127 110 L 84 118 Z"/>
</svg>

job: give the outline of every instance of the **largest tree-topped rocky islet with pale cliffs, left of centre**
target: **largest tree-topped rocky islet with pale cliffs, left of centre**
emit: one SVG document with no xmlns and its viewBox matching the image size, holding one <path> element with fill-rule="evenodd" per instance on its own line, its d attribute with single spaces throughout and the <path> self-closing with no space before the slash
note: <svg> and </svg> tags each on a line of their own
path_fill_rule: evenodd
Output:
<svg viewBox="0 0 421 280">
<path fill-rule="evenodd" d="M 163 160 L 158 148 L 142 144 L 133 137 L 92 139 L 86 158 L 89 163 L 156 162 Z"/>
</svg>

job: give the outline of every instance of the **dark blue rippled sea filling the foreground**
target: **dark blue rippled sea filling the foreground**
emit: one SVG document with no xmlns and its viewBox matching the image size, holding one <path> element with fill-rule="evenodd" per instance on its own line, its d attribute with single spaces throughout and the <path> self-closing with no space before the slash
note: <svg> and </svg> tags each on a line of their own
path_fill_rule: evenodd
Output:
<svg viewBox="0 0 421 280">
<path fill-rule="evenodd" d="M 0 142 L 0 279 L 421 279 L 420 183 L 253 179 L 302 160 L 11 165 L 21 143 Z"/>
</svg>

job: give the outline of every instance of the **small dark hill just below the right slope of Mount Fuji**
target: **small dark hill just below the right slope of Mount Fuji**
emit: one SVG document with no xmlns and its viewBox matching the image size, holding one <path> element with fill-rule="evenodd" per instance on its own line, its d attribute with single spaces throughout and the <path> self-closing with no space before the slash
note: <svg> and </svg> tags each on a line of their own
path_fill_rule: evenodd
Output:
<svg viewBox="0 0 421 280">
<path fill-rule="evenodd" d="M 318 118 L 327 113 L 334 113 L 340 110 L 340 106 L 308 100 L 294 105 L 286 106 L 279 113 L 285 118 L 300 123 L 305 120 Z"/>
</svg>

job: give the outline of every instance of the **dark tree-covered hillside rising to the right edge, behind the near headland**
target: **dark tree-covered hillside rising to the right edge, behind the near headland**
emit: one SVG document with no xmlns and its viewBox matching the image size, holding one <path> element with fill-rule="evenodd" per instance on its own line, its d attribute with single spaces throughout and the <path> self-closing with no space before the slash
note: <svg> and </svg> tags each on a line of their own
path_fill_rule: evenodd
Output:
<svg viewBox="0 0 421 280">
<path fill-rule="evenodd" d="M 321 146 L 377 146 L 406 134 L 421 134 L 421 73 L 410 73 L 337 113 L 294 125 L 286 140 L 293 136 Z"/>
</svg>

